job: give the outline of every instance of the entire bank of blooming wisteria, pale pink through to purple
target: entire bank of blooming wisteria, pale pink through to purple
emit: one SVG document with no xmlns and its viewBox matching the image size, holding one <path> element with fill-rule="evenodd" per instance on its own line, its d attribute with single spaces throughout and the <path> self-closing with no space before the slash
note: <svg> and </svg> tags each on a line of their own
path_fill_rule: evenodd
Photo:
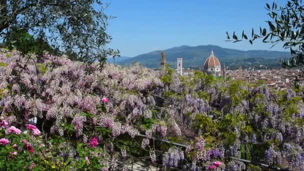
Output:
<svg viewBox="0 0 304 171">
<path fill-rule="evenodd" d="M 0 62 L 2 127 L 36 119 L 48 135 L 72 132 L 71 138 L 93 148 L 104 145 L 108 153 L 118 149 L 123 158 L 134 151 L 119 145 L 137 145 L 142 157 L 185 170 L 245 169 L 241 161 L 223 159 L 243 156 L 244 146 L 263 150 L 256 158 L 266 164 L 285 160 L 290 168 L 303 167 L 304 103 L 293 89 L 203 73 L 182 77 L 139 64 L 99 70 L 62 56 L 45 55 L 37 63 L 17 51 L 0 53 Z M 7 131 L 18 133 L 14 127 Z M 188 147 L 155 145 L 155 139 Z M 116 164 L 111 157 L 106 162 Z"/>
</svg>

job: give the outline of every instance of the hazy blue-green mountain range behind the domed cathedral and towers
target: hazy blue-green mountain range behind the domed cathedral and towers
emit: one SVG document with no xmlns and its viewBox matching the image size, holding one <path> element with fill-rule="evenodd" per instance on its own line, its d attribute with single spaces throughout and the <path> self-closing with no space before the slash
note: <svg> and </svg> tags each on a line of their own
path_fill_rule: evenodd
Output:
<svg viewBox="0 0 304 171">
<path fill-rule="evenodd" d="M 168 64 L 173 68 L 176 67 L 176 58 L 182 57 L 183 66 L 198 68 L 202 67 L 205 59 L 210 55 L 211 49 L 214 55 L 219 59 L 221 65 L 225 63 L 230 69 L 238 68 L 239 66 L 248 67 L 264 67 L 275 68 L 279 67 L 279 59 L 290 56 L 289 52 L 285 51 L 269 51 L 269 50 L 236 50 L 230 48 L 223 48 L 217 45 L 198 45 L 188 46 L 181 45 L 179 47 L 172 47 L 165 50 L 156 50 L 135 57 L 124 57 L 117 60 L 117 64 L 125 65 L 133 61 L 137 61 L 146 67 L 157 68 L 160 62 L 160 53 L 164 51 Z M 116 60 L 116 58 L 115 58 Z M 261 66 L 263 65 L 263 66 Z"/>
</svg>

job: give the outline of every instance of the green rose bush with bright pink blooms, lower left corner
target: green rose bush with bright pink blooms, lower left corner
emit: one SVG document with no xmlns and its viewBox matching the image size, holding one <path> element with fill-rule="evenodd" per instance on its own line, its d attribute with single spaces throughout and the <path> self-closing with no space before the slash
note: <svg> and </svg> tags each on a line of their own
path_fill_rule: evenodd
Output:
<svg viewBox="0 0 304 171">
<path fill-rule="evenodd" d="M 104 150 L 97 145 L 78 143 L 74 151 L 68 150 L 67 139 L 53 137 L 43 140 L 35 131 L 34 125 L 26 124 L 29 131 L 19 134 L 8 133 L 1 128 L 0 136 L 0 168 L 3 170 L 88 170 L 107 169 L 103 162 Z M 67 146 L 63 146 L 67 145 Z M 65 155 L 66 152 L 78 153 L 77 159 Z M 98 154 L 99 153 L 99 154 Z"/>
</svg>

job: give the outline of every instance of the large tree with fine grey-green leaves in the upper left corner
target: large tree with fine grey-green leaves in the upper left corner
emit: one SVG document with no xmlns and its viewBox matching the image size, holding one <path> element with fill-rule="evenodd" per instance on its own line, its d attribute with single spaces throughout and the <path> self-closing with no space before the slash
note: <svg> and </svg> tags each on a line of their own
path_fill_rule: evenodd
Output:
<svg viewBox="0 0 304 171">
<path fill-rule="evenodd" d="M 24 54 L 67 51 L 104 62 L 119 53 L 105 47 L 111 40 L 106 6 L 100 0 L 0 0 L 0 39 Z"/>
</svg>

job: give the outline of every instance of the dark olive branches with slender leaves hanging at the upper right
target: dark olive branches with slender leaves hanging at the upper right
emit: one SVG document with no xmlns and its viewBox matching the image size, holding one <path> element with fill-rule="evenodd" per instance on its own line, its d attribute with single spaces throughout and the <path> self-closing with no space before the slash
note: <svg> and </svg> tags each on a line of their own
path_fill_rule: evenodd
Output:
<svg viewBox="0 0 304 171">
<path fill-rule="evenodd" d="M 268 28 L 252 28 L 251 37 L 242 31 L 241 38 L 235 32 L 232 36 L 226 32 L 227 41 L 238 42 L 248 40 L 251 44 L 255 39 L 262 38 L 262 42 L 271 43 L 273 47 L 277 43 L 283 43 L 283 48 L 290 49 L 291 58 L 281 60 L 283 67 L 295 67 L 304 65 L 304 6 L 302 0 L 287 0 L 284 6 L 277 6 L 275 2 L 266 3 L 265 9 L 271 18 L 267 20 Z"/>
</svg>

